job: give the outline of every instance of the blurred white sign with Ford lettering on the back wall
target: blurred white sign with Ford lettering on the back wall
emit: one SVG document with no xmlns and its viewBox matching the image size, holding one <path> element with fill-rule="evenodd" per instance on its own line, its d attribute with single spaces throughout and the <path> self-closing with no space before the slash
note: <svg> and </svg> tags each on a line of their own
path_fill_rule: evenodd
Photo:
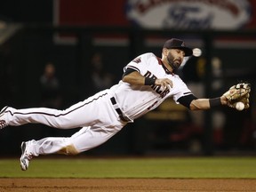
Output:
<svg viewBox="0 0 256 192">
<path fill-rule="evenodd" d="M 235 29 L 252 19 L 246 0 L 128 0 L 127 17 L 143 28 Z"/>
</svg>

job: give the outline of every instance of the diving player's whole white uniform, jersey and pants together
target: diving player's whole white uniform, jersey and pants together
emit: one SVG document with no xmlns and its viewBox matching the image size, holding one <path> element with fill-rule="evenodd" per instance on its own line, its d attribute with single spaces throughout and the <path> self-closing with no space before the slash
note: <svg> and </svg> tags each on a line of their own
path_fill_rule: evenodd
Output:
<svg viewBox="0 0 256 192">
<path fill-rule="evenodd" d="M 71 137 L 33 140 L 29 153 L 33 156 L 52 153 L 76 154 L 107 141 L 125 124 L 159 106 L 166 98 L 177 102 L 191 94 L 179 76 L 170 73 L 153 53 L 145 53 L 125 68 L 133 68 L 142 76 L 169 78 L 173 87 L 132 85 L 120 81 L 110 89 L 76 103 L 65 110 L 53 108 L 4 108 L 0 120 L 8 125 L 46 124 L 60 129 L 83 127 Z M 125 117 L 125 118 L 124 118 Z M 75 152 L 74 152 L 75 151 Z"/>
</svg>

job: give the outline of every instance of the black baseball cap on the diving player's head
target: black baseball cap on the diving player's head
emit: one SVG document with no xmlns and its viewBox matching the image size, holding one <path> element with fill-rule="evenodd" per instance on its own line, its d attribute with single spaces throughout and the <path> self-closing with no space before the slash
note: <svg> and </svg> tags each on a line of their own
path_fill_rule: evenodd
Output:
<svg viewBox="0 0 256 192">
<path fill-rule="evenodd" d="M 186 44 L 184 43 L 184 41 L 177 39 L 177 38 L 172 38 L 167 40 L 164 43 L 164 48 L 166 49 L 180 49 L 183 52 L 185 52 L 185 56 L 190 56 L 193 54 L 192 49 L 190 49 L 189 47 L 186 46 Z"/>
</svg>

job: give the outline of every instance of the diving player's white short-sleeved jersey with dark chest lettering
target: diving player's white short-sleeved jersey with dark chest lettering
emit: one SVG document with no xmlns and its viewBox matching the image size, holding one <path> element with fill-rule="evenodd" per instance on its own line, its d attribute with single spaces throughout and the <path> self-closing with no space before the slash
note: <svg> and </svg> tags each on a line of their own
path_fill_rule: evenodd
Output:
<svg viewBox="0 0 256 192">
<path fill-rule="evenodd" d="M 136 119 L 159 106 L 166 98 L 172 97 L 177 102 L 180 97 L 191 94 L 180 76 L 171 74 L 164 67 L 162 60 L 153 53 L 145 53 L 132 60 L 125 68 L 132 68 L 142 76 L 151 78 L 169 78 L 173 87 L 165 89 L 156 85 L 131 85 L 120 81 L 110 91 L 114 92 L 116 101 L 129 118 Z"/>
</svg>

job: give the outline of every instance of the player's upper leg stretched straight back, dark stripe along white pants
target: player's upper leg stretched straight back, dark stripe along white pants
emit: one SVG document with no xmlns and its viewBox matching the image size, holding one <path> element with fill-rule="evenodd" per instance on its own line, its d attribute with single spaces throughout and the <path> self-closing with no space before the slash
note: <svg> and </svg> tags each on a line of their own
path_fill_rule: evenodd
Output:
<svg viewBox="0 0 256 192">
<path fill-rule="evenodd" d="M 46 124 L 60 129 L 83 127 L 97 122 L 104 110 L 108 113 L 109 97 L 107 92 L 99 92 L 87 100 L 76 103 L 65 110 L 52 108 L 4 108 L 0 116 L 0 128 L 21 124 Z"/>
</svg>

